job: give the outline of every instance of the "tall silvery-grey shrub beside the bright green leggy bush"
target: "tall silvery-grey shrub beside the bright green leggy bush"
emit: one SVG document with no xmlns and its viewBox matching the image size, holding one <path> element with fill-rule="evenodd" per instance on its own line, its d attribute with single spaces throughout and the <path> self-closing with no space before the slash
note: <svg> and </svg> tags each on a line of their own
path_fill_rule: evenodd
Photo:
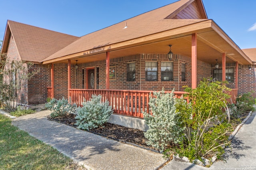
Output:
<svg viewBox="0 0 256 170">
<path fill-rule="evenodd" d="M 174 94 L 154 92 L 149 100 L 152 115 L 144 113 L 144 119 L 149 129 L 144 136 L 149 140 L 146 142 L 161 152 L 173 144 L 182 141 L 183 130 L 179 119 L 179 113 L 176 112 L 176 98 Z"/>
</svg>

